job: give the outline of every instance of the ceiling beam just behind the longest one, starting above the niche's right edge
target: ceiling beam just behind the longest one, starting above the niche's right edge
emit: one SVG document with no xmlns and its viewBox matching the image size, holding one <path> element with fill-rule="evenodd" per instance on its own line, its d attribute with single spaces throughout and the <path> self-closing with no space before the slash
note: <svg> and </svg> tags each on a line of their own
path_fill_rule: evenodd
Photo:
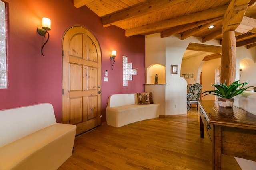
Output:
<svg viewBox="0 0 256 170">
<path fill-rule="evenodd" d="M 180 25 L 180 26 L 172 27 L 170 29 L 162 31 L 161 32 L 161 38 L 169 37 L 169 36 L 175 35 L 177 33 L 182 33 L 182 32 L 187 31 L 189 29 L 196 28 L 198 26 L 210 23 L 210 22 L 215 21 L 215 20 L 219 20 L 221 18 L 222 17 L 212 18 L 212 19 L 209 19 L 209 20 L 198 21 L 198 22 L 194 22 L 194 23 L 188 23 L 186 25 Z"/>
</svg>

